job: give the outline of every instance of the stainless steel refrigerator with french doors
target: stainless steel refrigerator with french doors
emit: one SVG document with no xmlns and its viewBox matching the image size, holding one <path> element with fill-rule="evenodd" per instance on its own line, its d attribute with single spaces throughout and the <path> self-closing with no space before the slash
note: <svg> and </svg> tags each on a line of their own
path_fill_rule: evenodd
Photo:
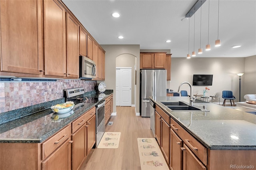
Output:
<svg viewBox="0 0 256 170">
<path fill-rule="evenodd" d="M 140 113 L 142 117 L 150 117 L 149 96 L 166 97 L 166 70 L 143 69 L 140 72 Z"/>
</svg>

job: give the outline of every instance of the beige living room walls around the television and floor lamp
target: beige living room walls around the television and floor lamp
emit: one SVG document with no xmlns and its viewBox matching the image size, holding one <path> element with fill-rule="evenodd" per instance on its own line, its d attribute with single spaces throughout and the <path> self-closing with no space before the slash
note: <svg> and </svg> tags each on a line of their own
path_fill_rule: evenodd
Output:
<svg viewBox="0 0 256 170">
<path fill-rule="evenodd" d="M 256 94 L 256 56 L 252 57 L 216 57 L 216 58 L 172 58 L 170 89 L 178 90 L 183 81 L 192 83 L 193 74 L 213 74 L 212 86 L 206 96 L 217 93 L 220 101 L 223 90 L 231 90 L 239 101 L 239 77 L 236 73 L 245 73 L 241 77 L 241 101 L 245 94 Z M 204 86 L 193 86 L 193 93 L 202 94 Z M 182 90 L 190 93 L 189 86 L 182 85 Z"/>
</svg>

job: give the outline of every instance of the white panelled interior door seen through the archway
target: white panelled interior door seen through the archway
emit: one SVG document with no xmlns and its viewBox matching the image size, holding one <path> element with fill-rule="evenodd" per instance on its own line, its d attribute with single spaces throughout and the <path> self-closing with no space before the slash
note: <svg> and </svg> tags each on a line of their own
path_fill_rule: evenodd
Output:
<svg viewBox="0 0 256 170">
<path fill-rule="evenodd" d="M 116 68 L 116 106 L 132 106 L 132 68 Z"/>
</svg>

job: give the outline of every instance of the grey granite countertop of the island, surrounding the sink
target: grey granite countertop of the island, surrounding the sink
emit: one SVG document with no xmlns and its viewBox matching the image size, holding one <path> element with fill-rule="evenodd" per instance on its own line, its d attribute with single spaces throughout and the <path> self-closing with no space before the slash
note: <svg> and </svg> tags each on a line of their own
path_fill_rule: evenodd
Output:
<svg viewBox="0 0 256 170">
<path fill-rule="evenodd" d="M 210 112 L 175 112 L 160 101 L 185 101 L 189 97 L 150 97 L 179 125 L 210 150 L 256 150 L 256 115 L 212 103 L 206 105 Z M 201 107 L 202 108 L 202 107 Z"/>
</svg>

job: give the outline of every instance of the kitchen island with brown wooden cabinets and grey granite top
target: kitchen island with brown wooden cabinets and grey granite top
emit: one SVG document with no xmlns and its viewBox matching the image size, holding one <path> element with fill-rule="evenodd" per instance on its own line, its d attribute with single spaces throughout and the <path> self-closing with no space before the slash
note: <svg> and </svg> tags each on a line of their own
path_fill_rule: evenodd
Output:
<svg viewBox="0 0 256 170">
<path fill-rule="evenodd" d="M 160 129 L 164 129 L 164 123 L 168 126 L 168 121 L 170 122 L 170 152 L 166 152 L 169 154 L 166 158 L 170 159 L 167 162 L 170 162 L 171 168 L 173 151 L 175 151 L 174 139 L 178 140 L 176 142 L 179 144 L 179 150 L 176 151 L 180 151 L 180 167 L 184 169 L 191 169 L 187 167 L 191 166 L 191 162 L 186 159 L 189 154 L 198 161 L 200 165 L 198 169 L 256 168 L 256 115 L 212 103 L 193 104 L 200 108 L 205 105 L 207 112 L 171 111 L 160 101 L 184 101 L 189 104 L 189 97 L 150 97 L 150 99 L 157 105 L 156 114 L 163 112 L 170 120 L 164 119 L 166 115 L 161 117 L 161 113 L 160 117 L 156 115 L 156 119 L 162 122 Z M 157 121 L 155 126 L 159 125 Z M 191 140 L 188 140 L 189 137 Z M 160 146 L 165 142 L 166 136 L 162 138 Z"/>
</svg>

